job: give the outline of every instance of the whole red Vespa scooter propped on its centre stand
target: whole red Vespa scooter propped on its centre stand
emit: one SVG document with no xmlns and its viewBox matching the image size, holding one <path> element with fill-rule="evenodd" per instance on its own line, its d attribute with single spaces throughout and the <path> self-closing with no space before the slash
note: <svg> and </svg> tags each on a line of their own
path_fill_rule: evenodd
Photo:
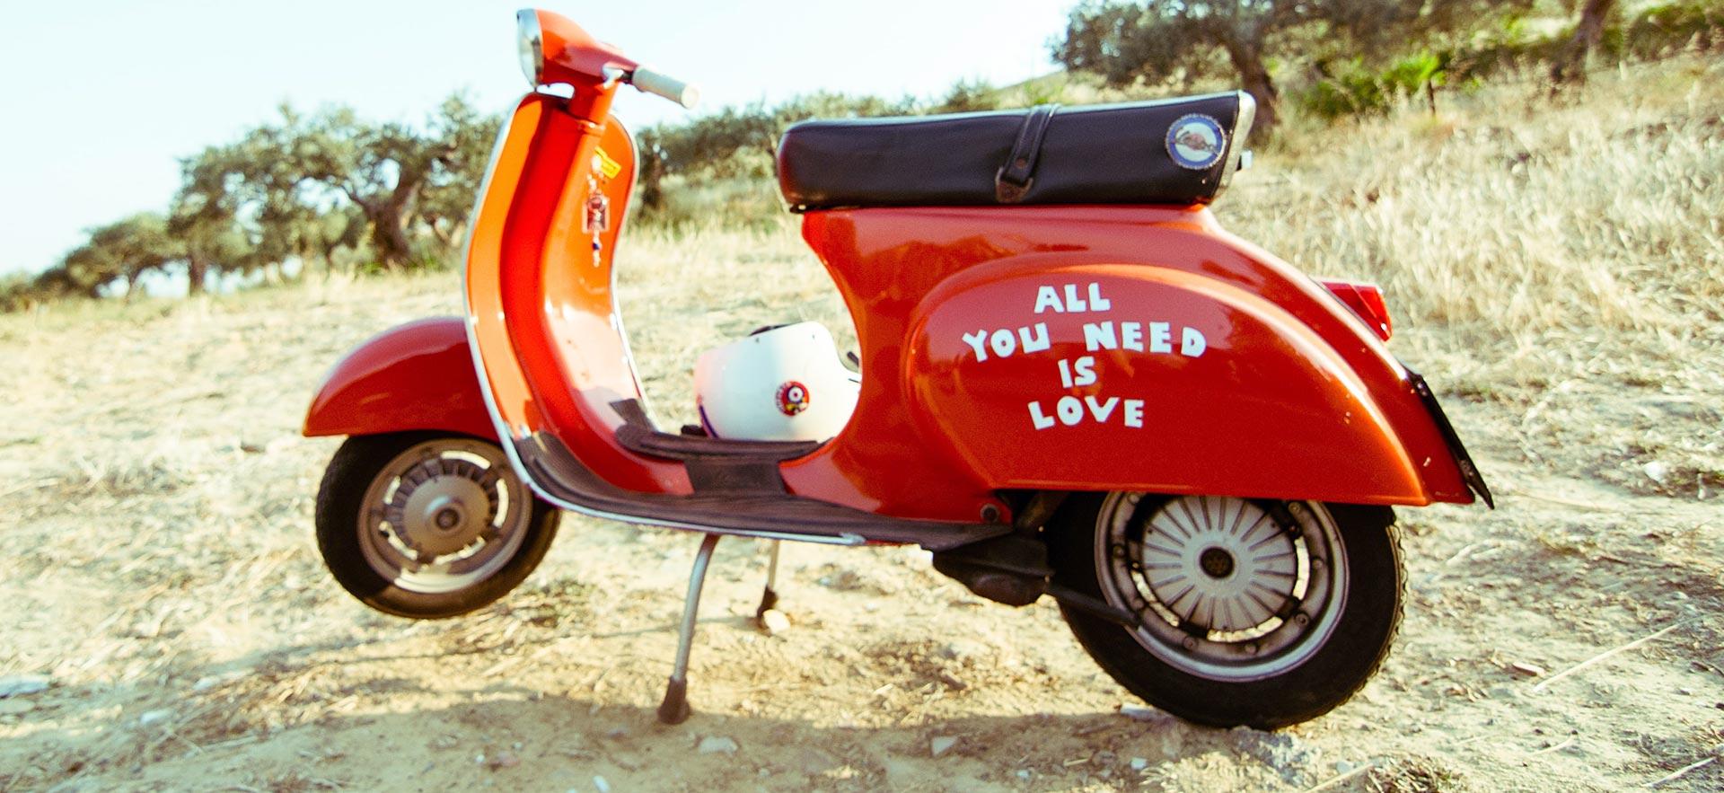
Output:
<svg viewBox="0 0 1724 793">
<path fill-rule="evenodd" d="M 1490 503 L 1384 347 L 1377 290 L 1317 283 L 1209 212 L 1245 157 L 1243 93 L 791 128 L 779 184 L 865 376 L 845 391 L 796 374 L 831 360 L 774 359 L 798 326 L 750 336 L 765 362 L 715 364 L 734 383 L 702 391 L 705 428 L 664 433 L 612 291 L 634 148 L 610 102 L 693 90 L 560 16 L 522 10 L 519 28 L 536 90 L 479 195 L 465 319 L 360 345 L 305 419 L 348 436 L 317 541 L 379 610 L 497 600 L 559 510 L 703 533 L 659 710 L 679 722 L 719 536 L 915 543 L 986 598 L 1053 596 L 1150 703 L 1276 727 L 1345 702 L 1388 652 L 1390 505 Z M 738 410 L 791 431 L 738 434 L 719 415 Z M 762 610 L 774 600 L 769 574 Z"/>
</svg>

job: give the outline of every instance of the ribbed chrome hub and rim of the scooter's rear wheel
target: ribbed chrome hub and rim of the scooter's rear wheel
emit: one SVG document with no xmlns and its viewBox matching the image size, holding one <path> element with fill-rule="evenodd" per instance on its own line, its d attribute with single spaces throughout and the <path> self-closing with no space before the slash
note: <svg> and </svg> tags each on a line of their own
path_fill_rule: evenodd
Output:
<svg viewBox="0 0 1724 793">
<path fill-rule="evenodd" d="M 1114 493 L 1096 534 L 1105 598 L 1138 615 L 1140 645 L 1190 674 L 1291 669 L 1327 641 L 1345 603 L 1340 533 L 1321 503 Z"/>
</svg>

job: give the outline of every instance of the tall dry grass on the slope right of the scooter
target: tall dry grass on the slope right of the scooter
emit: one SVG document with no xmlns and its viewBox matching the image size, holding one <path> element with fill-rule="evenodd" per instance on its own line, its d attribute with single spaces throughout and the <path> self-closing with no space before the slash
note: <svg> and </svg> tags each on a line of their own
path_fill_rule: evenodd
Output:
<svg viewBox="0 0 1724 793">
<path fill-rule="evenodd" d="M 1724 62 L 1507 84 L 1307 134 L 1217 214 L 1317 274 L 1379 281 L 1402 355 L 1508 405 L 1527 459 L 1724 486 Z M 1602 395 L 1631 388 L 1634 403 Z M 1650 471 L 1650 472 L 1648 472 Z"/>
</svg>

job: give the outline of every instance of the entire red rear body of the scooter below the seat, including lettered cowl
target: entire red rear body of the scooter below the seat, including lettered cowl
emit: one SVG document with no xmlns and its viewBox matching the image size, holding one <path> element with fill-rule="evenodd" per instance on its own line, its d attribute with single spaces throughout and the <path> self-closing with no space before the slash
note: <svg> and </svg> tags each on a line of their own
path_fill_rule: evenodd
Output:
<svg viewBox="0 0 1724 793">
<path fill-rule="evenodd" d="M 1207 209 L 829 210 L 803 236 L 864 381 L 850 426 L 784 465 L 796 491 L 895 514 L 1002 488 L 1472 500 L 1372 331 Z"/>
</svg>

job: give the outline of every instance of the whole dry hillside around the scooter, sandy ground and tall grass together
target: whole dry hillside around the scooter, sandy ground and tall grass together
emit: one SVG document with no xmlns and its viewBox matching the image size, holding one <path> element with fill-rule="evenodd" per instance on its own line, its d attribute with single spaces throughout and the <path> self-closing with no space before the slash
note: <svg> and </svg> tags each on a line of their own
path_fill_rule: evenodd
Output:
<svg viewBox="0 0 1724 793">
<path fill-rule="evenodd" d="M 1391 348 L 1500 498 L 1400 510 L 1388 664 L 1281 733 L 1145 710 L 1052 603 L 981 602 L 912 548 L 786 546 L 795 626 L 765 636 L 765 546 L 743 540 L 709 579 L 695 715 L 665 727 L 690 534 L 565 515 L 517 593 L 447 622 L 369 612 L 317 560 L 336 441 L 298 438 L 305 402 L 365 336 L 459 312 L 453 274 L 0 315 L 0 677 L 50 681 L 0 698 L 0 790 L 1657 781 L 1724 752 L 1721 116 L 1715 59 L 1558 103 L 1508 83 L 1300 133 L 1222 197 L 1241 236 L 1384 286 Z M 660 424 L 691 419 L 707 347 L 786 319 L 850 333 L 790 222 L 621 255 Z M 734 752 L 696 752 L 710 736 Z M 1658 790 L 1721 786 L 1714 760 Z"/>
</svg>

